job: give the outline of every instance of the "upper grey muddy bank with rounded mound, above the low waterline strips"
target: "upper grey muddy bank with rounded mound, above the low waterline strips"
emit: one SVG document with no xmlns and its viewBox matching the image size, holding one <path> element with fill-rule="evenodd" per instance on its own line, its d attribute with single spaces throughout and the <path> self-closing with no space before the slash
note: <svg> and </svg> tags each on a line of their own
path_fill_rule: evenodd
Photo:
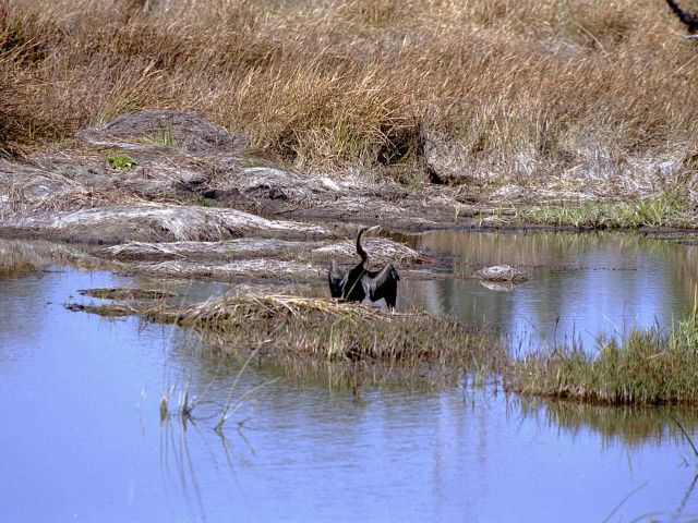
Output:
<svg viewBox="0 0 698 523">
<path fill-rule="evenodd" d="M 59 148 L 0 161 L 0 233 L 104 244 L 332 238 L 306 222 L 421 230 L 480 211 L 464 187 L 301 173 L 244 145 L 194 113 L 124 114 Z"/>
</svg>

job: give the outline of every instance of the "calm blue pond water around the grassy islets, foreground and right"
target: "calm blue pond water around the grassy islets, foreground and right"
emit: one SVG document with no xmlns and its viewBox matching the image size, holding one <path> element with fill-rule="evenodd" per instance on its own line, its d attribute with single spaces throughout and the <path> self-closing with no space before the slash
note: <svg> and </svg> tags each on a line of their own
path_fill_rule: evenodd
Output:
<svg viewBox="0 0 698 523">
<path fill-rule="evenodd" d="M 447 251 L 450 240 L 441 234 L 419 241 Z M 443 245 L 440 238 L 446 239 Z M 579 244 L 570 238 L 573 247 L 558 253 L 567 256 L 561 260 L 542 236 L 522 238 L 518 246 L 513 236 L 469 241 L 470 259 L 483 264 L 634 267 L 593 273 L 624 278 L 609 284 L 616 285 L 616 294 L 623 289 L 626 311 L 641 321 L 671 318 L 690 294 L 683 282 L 693 273 L 695 254 L 669 242 L 654 246 L 610 236 L 603 257 L 602 236 Z M 450 244 L 452 251 L 464 245 Z M 498 246 L 490 258 L 488 244 Z M 400 306 L 414 301 L 436 313 L 483 315 L 501 307 L 502 324 L 516 327 L 518 311 L 528 318 L 551 317 L 552 306 L 549 316 L 537 313 L 542 305 L 537 308 L 533 285 L 557 300 L 561 311 L 580 311 L 574 299 L 553 290 L 564 294 L 582 275 L 535 268 L 529 282 L 510 292 L 471 280 L 406 281 Z M 553 278 L 562 281 L 553 285 L 547 281 Z M 0 280 L 4 520 L 698 518 L 697 459 L 674 422 L 698 440 L 695 409 L 550 403 L 469 385 L 440 391 L 366 387 L 357 397 L 326 377 L 289 378 L 254 362 L 244 366 L 217 357 L 176 327 L 105 319 L 63 306 L 92 300 L 79 289 L 133 284 L 109 272 L 57 265 Z M 185 283 L 178 284 L 169 289 L 186 291 Z M 194 287 L 201 294 L 225 288 Z M 591 283 L 573 289 L 577 300 L 597 292 Z M 642 306 L 642 292 L 651 304 Z M 583 317 L 575 316 L 577 325 Z M 192 405 L 191 416 L 182 415 L 184 401 Z M 230 415 L 217 431 L 226 405 Z"/>
</svg>

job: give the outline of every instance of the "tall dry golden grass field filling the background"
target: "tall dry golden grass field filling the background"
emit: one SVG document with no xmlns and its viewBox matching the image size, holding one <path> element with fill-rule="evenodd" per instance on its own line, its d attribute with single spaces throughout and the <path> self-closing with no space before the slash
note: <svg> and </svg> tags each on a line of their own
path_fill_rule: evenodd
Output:
<svg viewBox="0 0 698 523">
<path fill-rule="evenodd" d="M 160 107 L 305 168 L 688 183 L 683 34 L 657 0 L 0 0 L 0 148 Z"/>
</svg>

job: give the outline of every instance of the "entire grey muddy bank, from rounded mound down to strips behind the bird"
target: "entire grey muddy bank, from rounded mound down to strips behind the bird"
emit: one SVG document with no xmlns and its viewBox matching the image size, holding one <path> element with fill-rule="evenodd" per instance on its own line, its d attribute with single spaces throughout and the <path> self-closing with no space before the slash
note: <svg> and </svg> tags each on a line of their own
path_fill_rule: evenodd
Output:
<svg viewBox="0 0 698 523">
<path fill-rule="evenodd" d="M 43 155 L 0 160 L 0 235 L 101 245 L 88 253 L 94 263 L 133 275 L 323 283 L 330 258 L 356 264 L 358 224 L 509 230 L 520 227 L 517 205 L 589 196 L 410 185 L 377 171 L 330 178 L 245 147 L 195 113 L 124 114 Z M 419 267 L 429 256 L 397 242 L 370 239 L 366 248 L 372 263 L 438 276 Z"/>
</svg>

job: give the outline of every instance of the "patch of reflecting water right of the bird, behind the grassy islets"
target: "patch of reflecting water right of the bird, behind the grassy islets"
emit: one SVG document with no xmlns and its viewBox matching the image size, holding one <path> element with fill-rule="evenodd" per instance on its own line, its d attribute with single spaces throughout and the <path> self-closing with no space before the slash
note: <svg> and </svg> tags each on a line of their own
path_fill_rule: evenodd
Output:
<svg viewBox="0 0 698 523">
<path fill-rule="evenodd" d="M 414 242 L 456 255 L 456 275 L 501 264 L 528 272 L 529 281 L 509 292 L 472 279 L 408 281 L 401 301 L 432 314 L 485 318 L 522 351 L 573 340 L 589 349 L 601 333 L 669 327 L 690 311 L 698 283 L 698 247 L 637 234 L 435 231 Z"/>
</svg>

